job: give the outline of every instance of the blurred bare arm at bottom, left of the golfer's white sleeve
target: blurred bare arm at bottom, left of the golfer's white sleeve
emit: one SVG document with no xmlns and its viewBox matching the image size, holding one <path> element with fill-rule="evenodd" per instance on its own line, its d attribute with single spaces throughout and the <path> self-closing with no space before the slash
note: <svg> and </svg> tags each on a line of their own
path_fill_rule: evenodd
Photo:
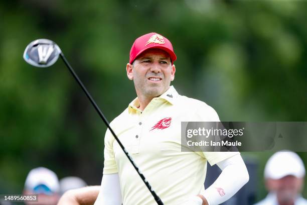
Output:
<svg viewBox="0 0 307 205">
<path fill-rule="evenodd" d="M 60 198 L 58 205 L 93 205 L 100 186 L 87 186 L 66 191 Z"/>
</svg>

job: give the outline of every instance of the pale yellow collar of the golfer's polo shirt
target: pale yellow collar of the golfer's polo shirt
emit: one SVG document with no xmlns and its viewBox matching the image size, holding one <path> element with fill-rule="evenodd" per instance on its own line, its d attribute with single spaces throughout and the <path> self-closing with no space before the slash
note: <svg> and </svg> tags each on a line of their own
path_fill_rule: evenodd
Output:
<svg viewBox="0 0 307 205">
<path fill-rule="evenodd" d="M 165 93 L 163 93 L 157 98 L 165 99 L 166 101 L 170 102 L 170 104 L 174 105 L 176 104 L 176 98 L 178 97 L 178 95 L 179 95 L 178 92 L 176 91 L 175 87 L 172 85 Z M 133 110 L 141 112 L 141 110 L 139 110 L 138 108 L 139 108 L 139 101 L 138 98 L 136 97 L 130 102 L 128 106 L 128 112 L 131 113 Z"/>
</svg>

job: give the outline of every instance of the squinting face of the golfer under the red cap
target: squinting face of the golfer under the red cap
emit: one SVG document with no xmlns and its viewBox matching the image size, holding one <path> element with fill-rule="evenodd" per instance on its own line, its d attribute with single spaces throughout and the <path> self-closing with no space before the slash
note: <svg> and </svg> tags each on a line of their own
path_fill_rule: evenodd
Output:
<svg viewBox="0 0 307 205">
<path fill-rule="evenodd" d="M 175 77 L 175 65 L 164 50 L 148 49 L 135 59 L 132 76 L 138 95 L 157 97 L 169 89 Z"/>
</svg>

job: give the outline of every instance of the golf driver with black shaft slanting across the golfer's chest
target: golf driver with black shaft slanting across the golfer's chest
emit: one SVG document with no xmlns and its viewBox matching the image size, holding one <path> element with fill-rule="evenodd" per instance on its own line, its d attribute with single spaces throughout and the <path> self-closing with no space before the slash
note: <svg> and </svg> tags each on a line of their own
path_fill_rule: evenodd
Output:
<svg viewBox="0 0 307 205">
<path fill-rule="evenodd" d="M 117 143 L 119 144 L 119 146 L 121 147 L 121 149 L 123 150 L 125 155 L 128 157 L 129 161 L 131 162 L 131 164 L 135 168 L 135 170 L 138 173 L 138 175 L 141 177 L 141 179 L 145 183 L 146 187 L 148 188 L 148 190 L 150 191 L 152 196 L 154 196 L 156 202 L 159 205 L 163 205 L 164 203 L 162 202 L 160 197 L 156 194 L 154 189 L 152 189 L 152 187 L 150 186 L 148 181 L 145 179 L 144 175 L 139 171 L 138 167 L 133 162 L 133 160 L 130 157 L 129 153 L 126 151 L 126 149 L 121 144 L 121 142 L 117 138 L 116 134 L 114 133 L 114 131 L 110 127 L 109 122 L 104 117 L 103 113 L 101 112 L 101 110 L 97 106 L 95 100 L 92 98 L 90 93 L 87 91 L 86 87 L 83 85 L 83 83 L 79 79 L 79 77 L 76 74 L 76 72 L 73 70 L 73 68 L 70 66 L 70 64 L 66 60 L 66 58 L 65 58 L 64 54 L 62 53 L 61 49 L 59 48 L 59 46 L 55 42 L 53 42 L 51 40 L 48 40 L 48 39 L 38 39 L 38 40 L 32 41 L 27 46 L 27 48 L 26 48 L 26 50 L 24 52 L 24 59 L 26 60 L 26 62 L 31 64 L 31 65 L 33 65 L 33 66 L 36 66 L 36 67 L 49 67 L 49 66 L 53 65 L 58 60 L 59 56 L 61 56 L 62 60 L 64 61 L 65 65 L 67 66 L 67 68 L 69 69 L 69 71 L 71 72 L 71 74 L 73 75 L 75 80 L 78 82 L 78 84 L 81 86 L 81 88 L 85 92 L 86 96 L 88 97 L 88 99 L 91 101 L 91 104 L 94 106 L 94 108 L 97 111 L 98 115 L 100 116 L 100 118 L 102 119 L 104 124 L 107 126 L 107 128 L 110 130 L 110 132 L 114 136 L 115 140 L 117 141 Z"/>
</svg>

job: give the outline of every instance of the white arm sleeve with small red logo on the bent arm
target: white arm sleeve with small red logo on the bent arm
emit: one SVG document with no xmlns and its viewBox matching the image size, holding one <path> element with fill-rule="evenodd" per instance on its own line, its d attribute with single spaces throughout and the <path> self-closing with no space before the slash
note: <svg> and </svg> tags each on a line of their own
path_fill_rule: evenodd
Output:
<svg viewBox="0 0 307 205">
<path fill-rule="evenodd" d="M 217 165 L 222 169 L 222 173 L 204 192 L 209 205 L 217 205 L 228 200 L 249 180 L 240 154 L 225 159 Z"/>
</svg>

